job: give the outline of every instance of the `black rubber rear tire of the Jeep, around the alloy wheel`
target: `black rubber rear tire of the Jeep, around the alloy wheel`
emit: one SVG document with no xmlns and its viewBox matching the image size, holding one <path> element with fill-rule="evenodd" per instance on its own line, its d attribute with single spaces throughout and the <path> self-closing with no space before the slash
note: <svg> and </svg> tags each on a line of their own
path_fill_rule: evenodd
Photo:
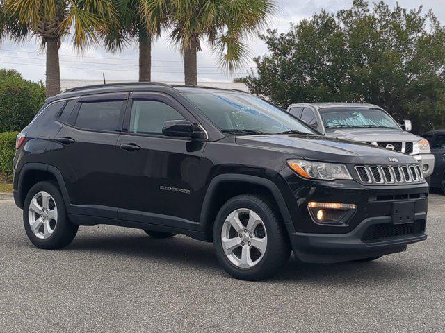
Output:
<svg viewBox="0 0 445 333">
<path fill-rule="evenodd" d="M 48 237 L 47 239 L 40 239 L 35 236 L 35 234 L 31 230 L 31 225 L 29 225 L 29 205 L 35 194 L 41 191 L 50 194 L 54 199 L 57 207 L 56 227 L 54 228 L 54 232 L 53 234 L 51 234 L 51 237 Z M 65 202 L 63 200 L 62 194 L 60 194 L 59 189 L 51 182 L 38 182 L 33 187 L 31 187 L 24 200 L 23 222 L 26 235 L 28 236 L 29 240 L 38 248 L 55 249 L 66 246 L 67 244 L 71 243 L 77 232 L 77 226 L 72 225 L 70 221 L 68 221 Z"/>
</svg>

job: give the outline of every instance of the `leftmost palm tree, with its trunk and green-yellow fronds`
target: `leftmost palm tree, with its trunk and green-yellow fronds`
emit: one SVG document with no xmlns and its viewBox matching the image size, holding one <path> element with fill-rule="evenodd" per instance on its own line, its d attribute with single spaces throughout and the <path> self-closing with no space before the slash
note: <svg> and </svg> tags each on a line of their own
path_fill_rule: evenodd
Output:
<svg viewBox="0 0 445 333">
<path fill-rule="evenodd" d="M 97 42 L 96 31 L 105 22 L 117 22 L 109 0 L 3 0 L 3 5 L 1 37 L 20 41 L 36 36 L 46 51 L 47 96 L 60 93 L 58 50 L 63 38 L 72 34 L 74 46 L 83 50 Z"/>
</svg>

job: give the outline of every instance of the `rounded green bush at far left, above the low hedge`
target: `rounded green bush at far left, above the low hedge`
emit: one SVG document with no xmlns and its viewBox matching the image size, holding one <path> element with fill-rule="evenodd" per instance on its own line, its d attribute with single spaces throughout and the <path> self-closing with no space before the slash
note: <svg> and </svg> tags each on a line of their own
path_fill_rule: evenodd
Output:
<svg viewBox="0 0 445 333">
<path fill-rule="evenodd" d="M 17 71 L 0 70 L 0 132 L 22 130 L 45 99 L 42 83 L 24 80 Z"/>
</svg>

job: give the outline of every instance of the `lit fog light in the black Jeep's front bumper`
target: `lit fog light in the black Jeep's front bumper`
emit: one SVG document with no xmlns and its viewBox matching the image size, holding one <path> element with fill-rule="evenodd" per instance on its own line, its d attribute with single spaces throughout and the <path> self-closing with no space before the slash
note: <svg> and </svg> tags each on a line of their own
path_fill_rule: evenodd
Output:
<svg viewBox="0 0 445 333">
<path fill-rule="evenodd" d="M 357 210 L 349 203 L 315 203 L 307 204 L 312 220 L 322 224 L 346 224 Z"/>
</svg>

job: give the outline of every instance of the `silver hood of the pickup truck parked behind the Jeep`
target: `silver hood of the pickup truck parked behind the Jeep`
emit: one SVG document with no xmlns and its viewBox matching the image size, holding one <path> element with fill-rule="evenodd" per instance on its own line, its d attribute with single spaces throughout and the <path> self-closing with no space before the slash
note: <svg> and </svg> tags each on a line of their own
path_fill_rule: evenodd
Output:
<svg viewBox="0 0 445 333">
<path fill-rule="evenodd" d="M 339 128 L 326 135 L 358 142 L 414 142 L 421 139 L 412 133 L 389 128 Z"/>
</svg>

